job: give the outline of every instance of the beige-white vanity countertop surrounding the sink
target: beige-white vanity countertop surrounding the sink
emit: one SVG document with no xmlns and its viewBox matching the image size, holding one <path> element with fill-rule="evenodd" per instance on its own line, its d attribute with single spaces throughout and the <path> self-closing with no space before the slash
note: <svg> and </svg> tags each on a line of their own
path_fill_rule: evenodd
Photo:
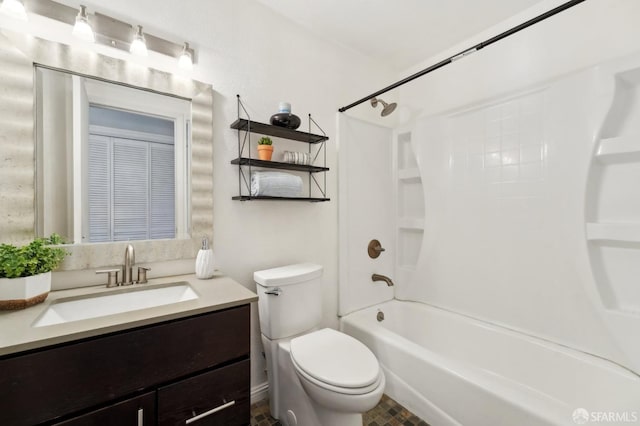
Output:
<svg viewBox="0 0 640 426">
<path fill-rule="evenodd" d="M 99 295 L 112 291 L 126 291 L 126 289 L 133 290 L 145 286 L 153 287 L 154 285 L 178 281 L 188 282 L 199 297 L 184 302 L 98 318 L 45 327 L 32 326 L 47 307 L 56 300 Z M 176 318 L 218 311 L 257 300 L 258 296 L 254 292 L 231 278 L 222 275 L 214 276 L 208 280 L 199 280 L 193 274 L 177 275 L 150 279 L 147 284 L 136 284 L 128 287 L 106 288 L 105 285 L 102 285 L 52 291 L 44 303 L 20 311 L 0 311 L 0 356 Z"/>
</svg>

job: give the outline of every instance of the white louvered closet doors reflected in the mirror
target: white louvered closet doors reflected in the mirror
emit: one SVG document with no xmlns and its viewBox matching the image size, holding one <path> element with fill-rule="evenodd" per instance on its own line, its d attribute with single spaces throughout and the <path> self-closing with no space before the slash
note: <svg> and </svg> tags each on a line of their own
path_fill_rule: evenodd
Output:
<svg viewBox="0 0 640 426">
<path fill-rule="evenodd" d="M 90 134 L 89 241 L 174 238 L 174 158 L 173 145 Z"/>
</svg>

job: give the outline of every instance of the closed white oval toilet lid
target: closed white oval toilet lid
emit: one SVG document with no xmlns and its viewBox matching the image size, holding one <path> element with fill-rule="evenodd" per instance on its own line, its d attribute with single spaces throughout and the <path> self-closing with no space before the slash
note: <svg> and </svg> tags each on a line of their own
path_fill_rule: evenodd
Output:
<svg viewBox="0 0 640 426">
<path fill-rule="evenodd" d="M 323 383 L 362 388 L 380 375 L 378 360 L 369 348 L 330 328 L 296 337 L 290 348 L 296 367 Z"/>
</svg>

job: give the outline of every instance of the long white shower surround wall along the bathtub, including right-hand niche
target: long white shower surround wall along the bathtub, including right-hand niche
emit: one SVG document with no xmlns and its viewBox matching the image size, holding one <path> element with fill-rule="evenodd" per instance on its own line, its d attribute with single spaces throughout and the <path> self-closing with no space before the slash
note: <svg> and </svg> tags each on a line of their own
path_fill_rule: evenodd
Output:
<svg viewBox="0 0 640 426">
<path fill-rule="evenodd" d="M 417 120 L 424 238 L 396 297 L 640 371 L 639 87 L 637 55 Z"/>
</svg>

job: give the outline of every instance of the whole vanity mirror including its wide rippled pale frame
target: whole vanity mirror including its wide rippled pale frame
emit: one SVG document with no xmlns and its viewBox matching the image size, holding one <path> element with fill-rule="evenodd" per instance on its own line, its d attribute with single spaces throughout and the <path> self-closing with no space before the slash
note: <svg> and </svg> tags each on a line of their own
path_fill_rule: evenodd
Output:
<svg viewBox="0 0 640 426">
<path fill-rule="evenodd" d="M 122 263 L 127 245 L 125 240 L 134 241 L 138 262 L 195 257 L 202 236 L 211 237 L 213 228 L 213 91 L 210 85 L 100 55 L 86 47 L 71 47 L 8 30 L 0 32 L 0 65 L 3 100 L 0 151 L 4 160 L 0 162 L 2 242 L 24 244 L 34 234 L 56 232 L 64 235 L 72 244 L 68 246 L 71 255 L 63 263 L 63 270 Z M 57 79 L 59 84 L 50 82 L 48 89 L 43 89 L 47 78 Z M 70 97 L 59 94 L 58 97 L 47 98 L 42 92 L 63 92 L 67 85 L 71 89 L 77 86 L 75 91 L 68 91 Z M 69 115 L 73 119 L 74 98 L 78 98 L 75 99 L 77 105 L 84 103 L 87 107 L 95 107 L 98 118 L 91 118 L 89 110 L 84 108 L 78 109 L 84 111 L 84 115 L 77 112 L 75 124 L 63 121 L 61 115 Z M 117 102 L 113 103 L 114 99 Z M 53 123 L 41 127 L 39 121 L 46 120 L 42 116 L 43 102 L 51 102 L 54 113 L 48 115 Z M 163 108 L 173 112 L 167 113 Z M 105 127 L 114 122 L 136 120 L 139 121 L 136 125 L 116 129 L 120 134 L 106 133 Z M 152 122 L 159 128 L 146 132 L 145 126 Z M 82 143 L 83 137 L 88 138 L 91 126 L 98 132 L 95 137 L 102 142 L 105 142 L 104 138 L 129 139 L 132 135 L 147 133 L 143 135 L 144 149 L 137 149 L 138 156 L 121 155 L 117 160 L 124 169 L 135 173 L 119 175 L 117 168 L 105 172 L 111 175 L 103 176 L 102 186 L 97 185 L 97 189 L 103 192 L 97 191 L 95 198 L 99 201 L 107 197 L 105 194 L 110 193 L 110 189 L 105 182 L 112 182 L 116 175 L 121 176 L 124 183 L 147 179 L 147 187 L 155 181 L 155 186 L 164 192 L 136 192 L 138 188 L 125 197 L 123 205 L 128 207 L 141 199 L 144 199 L 141 204 L 155 203 L 159 206 L 159 222 L 166 222 L 164 229 L 136 230 L 129 235 L 128 231 L 111 230 L 108 236 L 105 232 L 95 239 L 87 231 L 90 222 L 99 218 L 98 215 L 91 219 L 87 213 L 91 206 L 89 187 L 97 179 L 92 181 L 88 175 L 88 145 Z M 123 135 L 127 137 L 122 138 Z M 176 139 L 176 135 L 183 136 L 183 140 Z M 151 148 L 148 139 L 152 139 L 156 146 Z M 51 140 L 51 145 L 48 140 Z M 122 148 L 126 141 L 121 142 Z M 160 168 L 149 167 L 154 160 L 148 152 L 160 153 L 156 157 L 165 156 L 162 167 L 169 168 L 172 163 L 167 152 L 172 150 L 169 145 L 174 151 L 173 173 L 169 171 L 163 176 L 151 177 Z M 85 155 L 83 146 L 87 149 Z M 113 149 L 113 141 L 105 142 L 93 150 L 93 155 L 97 160 Z M 74 150 L 80 155 L 74 157 Z M 110 158 L 109 161 L 113 162 L 115 157 Z M 126 161 L 132 164 L 127 165 Z M 142 165 L 145 162 L 146 168 Z M 108 161 L 97 164 L 109 166 Z M 42 165 L 48 165 L 49 169 Z M 103 211 L 110 209 L 111 214 L 115 214 L 113 212 L 118 208 L 117 203 L 98 207 Z M 139 217 L 156 214 L 143 210 L 144 214 L 138 211 Z M 127 211 L 130 209 L 125 208 L 124 213 Z M 104 229 L 96 223 L 96 229 Z"/>
</svg>

